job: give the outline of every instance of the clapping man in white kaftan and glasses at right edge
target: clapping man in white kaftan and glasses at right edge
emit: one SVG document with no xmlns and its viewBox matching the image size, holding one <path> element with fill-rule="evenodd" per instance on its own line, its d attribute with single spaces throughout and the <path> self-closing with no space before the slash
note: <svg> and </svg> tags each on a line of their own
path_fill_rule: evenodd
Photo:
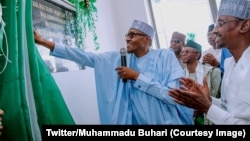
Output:
<svg viewBox="0 0 250 141">
<path fill-rule="evenodd" d="M 214 33 L 219 47 L 232 54 L 224 64 L 221 99 L 208 95 L 206 83 L 201 87 L 185 78 L 181 82 L 186 88 L 170 90 L 169 95 L 203 111 L 214 124 L 250 125 L 250 1 L 221 0 Z"/>
</svg>

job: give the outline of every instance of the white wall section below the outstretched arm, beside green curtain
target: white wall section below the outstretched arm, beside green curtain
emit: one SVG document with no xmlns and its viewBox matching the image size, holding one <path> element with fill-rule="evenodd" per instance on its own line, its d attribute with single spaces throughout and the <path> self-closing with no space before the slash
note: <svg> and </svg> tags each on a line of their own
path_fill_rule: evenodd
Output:
<svg viewBox="0 0 250 141">
<path fill-rule="evenodd" d="M 92 68 L 53 73 L 77 124 L 99 124 L 95 79 Z"/>
</svg>

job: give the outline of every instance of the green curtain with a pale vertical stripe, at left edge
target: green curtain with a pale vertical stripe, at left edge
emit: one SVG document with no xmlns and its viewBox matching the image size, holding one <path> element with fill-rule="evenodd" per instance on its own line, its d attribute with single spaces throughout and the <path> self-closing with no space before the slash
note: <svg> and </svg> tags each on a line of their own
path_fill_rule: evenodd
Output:
<svg viewBox="0 0 250 141">
<path fill-rule="evenodd" d="M 42 125 L 75 122 L 34 43 L 32 0 L 0 2 L 7 37 L 1 46 L 11 61 L 0 74 L 0 108 L 5 112 L 0 140 L 37 141 Z M 0 69 L 5 62 L 1 55 Z"/>
</svg>

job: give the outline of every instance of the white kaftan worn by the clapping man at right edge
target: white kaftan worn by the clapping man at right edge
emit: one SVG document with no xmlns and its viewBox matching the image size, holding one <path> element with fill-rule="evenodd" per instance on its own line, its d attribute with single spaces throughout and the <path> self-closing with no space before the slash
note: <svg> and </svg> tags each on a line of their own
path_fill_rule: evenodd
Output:
<svg viewBox="0 0 250 141">
<path fill-rule="evenodd" d="M 238 62 L 231 57 L 225 61 L 221 99 L 213 98 L 208 118 L 217 124 L 250 124 L 250 47 Z"/>
</svg>

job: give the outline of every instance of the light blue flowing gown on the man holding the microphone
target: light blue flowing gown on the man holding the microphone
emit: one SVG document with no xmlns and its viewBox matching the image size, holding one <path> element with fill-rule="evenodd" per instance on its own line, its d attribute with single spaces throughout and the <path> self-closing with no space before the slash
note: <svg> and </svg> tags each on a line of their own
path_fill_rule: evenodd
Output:
<svg viewBox="0 0 250 141">
<path fill-rule="evenodd" d="M 179 87 L 183 76 L 170 49 L 151 49 L 141 58 L 128 54 L 127 66 L 140 75 L 125 84 L 115 70 L 121 66 L 119 51 L 95 54 L 56 45 L 50 54 L 95 68 L 102 124 L 193 124 L 193 109 L 176 104 L 167 94 L 168 87 Z"/>
</svg>

